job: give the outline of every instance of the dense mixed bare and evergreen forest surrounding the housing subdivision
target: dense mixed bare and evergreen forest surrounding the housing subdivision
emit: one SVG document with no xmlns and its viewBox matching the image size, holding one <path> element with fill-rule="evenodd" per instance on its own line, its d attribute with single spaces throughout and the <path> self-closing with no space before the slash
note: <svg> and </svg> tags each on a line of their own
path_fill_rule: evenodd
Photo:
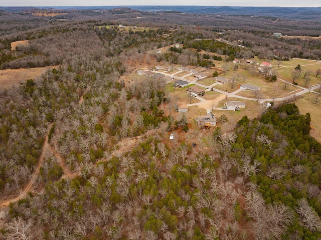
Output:
<svg viewBox="0 0 321 240">
<path fill-rule="evenodd" d="M 321 238 L 321 145 L 308 113 L 273 106 L 235 129 L 204 132 L 171 116 L 164 82 L 121 78 L 139 63 L 211 67 L 210 58 L 270 59 L 275 49 L 319 59 L 319 41 L 275 38 L 264 24 L 227 31 L 196 15 L 126 11 L 77 11 L 65 22 L 1 13 L 1 69 L 59 67 L 0 93 L 0 237 Z M 98 28 L 111 23 L 157 28 Z M 29 45 L 11 50 L 19 40 Z M 184 47 L 155 53 L 175 43 Z M 181 138 L 169 142 L 173 130 Z"/>
</svg>

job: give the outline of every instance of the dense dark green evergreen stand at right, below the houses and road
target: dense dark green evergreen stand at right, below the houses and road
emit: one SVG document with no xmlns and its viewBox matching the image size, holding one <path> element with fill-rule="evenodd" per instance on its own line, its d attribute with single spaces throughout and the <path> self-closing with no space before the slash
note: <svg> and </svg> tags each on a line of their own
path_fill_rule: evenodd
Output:
<svg viewBox="0 0 321 240">
<path fill-rule="evenodd" d="M 321 236 L 321 144 L 309 136 L 310 115 L 300 115 L 294 104 L 269 110 L 260 120 L 243 117 L 232 144 L 233 158 L 251 159 L 260 171 L 250 176 L 265 204 L 290 207 L 295 220 L 286 236 Z"/>
</svg>

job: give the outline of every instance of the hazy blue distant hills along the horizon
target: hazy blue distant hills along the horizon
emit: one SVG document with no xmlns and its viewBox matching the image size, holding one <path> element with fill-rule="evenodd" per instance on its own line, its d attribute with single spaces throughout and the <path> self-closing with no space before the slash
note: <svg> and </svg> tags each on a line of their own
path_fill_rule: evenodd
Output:
<svg viewBox="0 0 321 240">
<path fill-rule="evenodd" d="M 291 20 L 321 20 L 321 7 L 301 8 L 301 7 L 229 7 L 229 6 L 70 6 L 70 7 L 37 7 L 42 9 L 78 9 L 78 10 L 97 10 L 97 9 L 121 9 L 130 8 L 132 10 L 146 12 L 181 12 L 191 14 L 215 14 L 215 15 L 247 15 L 265 16 Z M 33 7 L 0 7 L 4 11 L 26 11 Z"/>
</svg>

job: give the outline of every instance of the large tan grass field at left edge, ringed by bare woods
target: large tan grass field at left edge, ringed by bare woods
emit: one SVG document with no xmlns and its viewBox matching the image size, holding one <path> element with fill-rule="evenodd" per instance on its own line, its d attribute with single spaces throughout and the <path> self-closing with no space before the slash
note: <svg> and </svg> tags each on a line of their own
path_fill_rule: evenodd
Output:
<svg viewBox="0 0 321 240">
<path fill-rule="evenodd" d="M 34 79 L 41 76 L 47 69 L 58 67 L 59 66 L 0 70 L 0 90 L 11 88 L 14 85 L 17 87 L 27 79 Z"/>
</svg>

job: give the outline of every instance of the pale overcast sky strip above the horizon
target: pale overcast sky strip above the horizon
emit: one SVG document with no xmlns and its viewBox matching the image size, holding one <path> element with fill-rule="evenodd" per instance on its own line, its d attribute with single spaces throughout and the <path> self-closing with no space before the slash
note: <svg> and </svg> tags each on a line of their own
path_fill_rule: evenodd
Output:
<svg viewBox="0 0 321 240">
<path fill-rule="evenodd" d="M 319 0 L 163 0 L 161 2 L 156 0 L 118 0 L 118 1 L 104 1 L 104 0 L 1 0 L 0 6 L 137 6 L 137 5 L 175 5 L 175 6 L 253 6 L 253 7 L 321 7 Z"/>
</svg>

